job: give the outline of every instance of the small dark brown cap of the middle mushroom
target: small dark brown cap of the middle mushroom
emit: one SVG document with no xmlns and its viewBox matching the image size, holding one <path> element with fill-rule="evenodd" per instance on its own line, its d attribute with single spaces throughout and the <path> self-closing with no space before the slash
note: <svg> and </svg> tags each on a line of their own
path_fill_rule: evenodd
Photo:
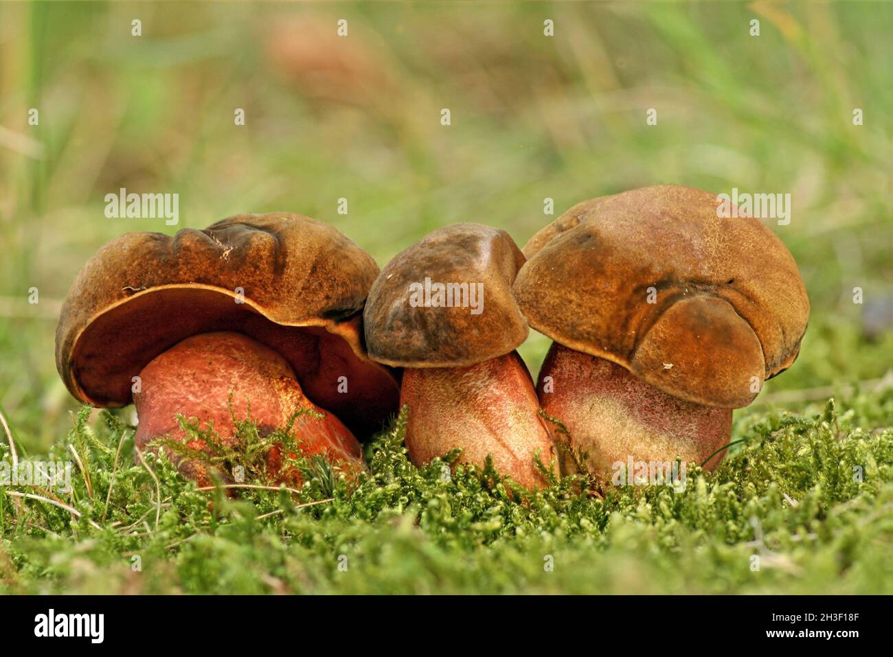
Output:
<svg viewBox="0 0 893 657">
<path fill-rule="evenodd" d="M 363 312 L 369 355 L 388 365 L 423 368 L 465 367 L 512 352 L 528 333 L 512 295 L 523 263 L 505 230 L 460 223 L 422 237 L 388 262 L 369 291 Z M 424 287 L 425 279 L 468 284 L 469 292 L 483 284 L 481 312 L 472 314 L 455 300 L 436 311 L 413 306 L 411 286 Z"/>
</svg>

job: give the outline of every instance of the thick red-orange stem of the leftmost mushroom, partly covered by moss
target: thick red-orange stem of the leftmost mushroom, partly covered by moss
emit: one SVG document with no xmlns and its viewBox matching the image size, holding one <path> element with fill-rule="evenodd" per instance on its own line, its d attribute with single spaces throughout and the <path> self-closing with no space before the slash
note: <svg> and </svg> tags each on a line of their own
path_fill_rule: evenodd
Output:
<svg viewBox="0 0 893 657">
<path fill-rule="evenodd" d="M 230 412 L 230 395 L 232 412 Z M 136 443 L 145 449 L 154 438 L 169 435 L 191 448 L 210 452 L 201 439 L 189 439 L 175 416 L 199 421 L 199 427 L 213 428 L 221 444 L 236 446 L 238 419 L 250 417 L 261 436 L 288 423 L 298 409 L 325 413 L 319 419 L 298 415 L 292 427 L 305 454 L 326 453 L 355 469 L 363 468 L 360 445 L 333 414 L 322 411 L 304 395 L 288 362 L 269 347 L 240 333 L 203 333 L 188 337 L 156 356 L 139 373 L 134 392 L 139 426 Z M 267 454 L 271 475 L 281 473 L 280 447 Z M 180 469 L 200 484 L 210 482 L 207 464 L 181 462 Z"/>
</svg>

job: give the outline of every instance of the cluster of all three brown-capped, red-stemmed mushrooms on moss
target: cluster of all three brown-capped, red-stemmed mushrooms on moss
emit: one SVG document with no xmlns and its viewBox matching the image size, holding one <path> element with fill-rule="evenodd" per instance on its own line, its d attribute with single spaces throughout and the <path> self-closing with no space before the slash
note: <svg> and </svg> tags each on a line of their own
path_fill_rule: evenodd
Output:
<svg viewBox="0 0 893 657">
<path fill-rule="evenodd" d="M 546 483 L 536 456 L 565 473 L 573 453 L 593 473 L 630 457 L 712 469 L 732 409 L 794 362 L 809 316 L 780 240 L 716 207 L 645 187 L 575 205 L 523 249 L 476 223 L 437 229 L 381 271 L 290 213 L 128 233 L 71 286 L 56 364 L 80 401 L 136 404 L 141 450 L 204 451 L 177 415 L 235 445 L 234 414 L 263 436 L 306 409 L 302 451 L 362 470 L 360 441 L 405 406 L 414 463 L 461 448 L 526 487 Z M 480 308 L 413 303 L 425 281 L 476 286 Z M 529 327 L 554 340 L 536 384 L 515 351 Z M 269 467 L 281 459 L 271 449 Z M 211 480 L 200 460 L 179 467 Z"/>
</svg>

